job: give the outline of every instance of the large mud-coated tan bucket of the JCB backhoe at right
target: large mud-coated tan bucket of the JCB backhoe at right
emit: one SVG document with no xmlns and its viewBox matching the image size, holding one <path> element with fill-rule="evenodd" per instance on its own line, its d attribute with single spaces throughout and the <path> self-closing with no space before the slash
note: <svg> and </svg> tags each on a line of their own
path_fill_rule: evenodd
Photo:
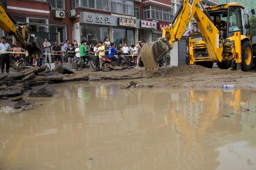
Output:
<svg viewBox="0 0 256 170">
<path fill-rule="evenodd" d="M 143 45 L 140 51 L 140 57 L 146 70 L 158 69 L 158 61 L 169 51 L 169 47 L 163 38 L 155 42 L 149 42 Z"/>
</svg>

